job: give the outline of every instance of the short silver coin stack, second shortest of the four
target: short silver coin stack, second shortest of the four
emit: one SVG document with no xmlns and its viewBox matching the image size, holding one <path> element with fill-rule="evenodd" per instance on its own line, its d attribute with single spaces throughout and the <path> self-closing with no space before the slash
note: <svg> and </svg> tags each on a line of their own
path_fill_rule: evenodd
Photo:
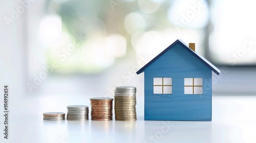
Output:
<svg viewBox="0 0 256 143">
<path fill-rule="evenodd" d="M 84 121 L 89 120 L 89 107 L 85 105 L 67 106 L 67 120 Z"/>
</svg>

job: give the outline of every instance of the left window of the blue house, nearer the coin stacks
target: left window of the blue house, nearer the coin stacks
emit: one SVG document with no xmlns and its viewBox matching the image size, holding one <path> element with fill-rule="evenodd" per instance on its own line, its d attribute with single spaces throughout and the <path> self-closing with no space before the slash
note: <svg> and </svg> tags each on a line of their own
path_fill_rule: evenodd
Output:
<svg viewBox="0 0 256 143">
<path fill-rule="evenodd" d="M 161 80 L 161 83 L 159 82 L 160 80 Z M 170 81 L 170 83 L 168 81 Z M 172 78 L 153 78 L 153 93 L 154 94 L 173 94 L 173 79 Z"/>
</svg>

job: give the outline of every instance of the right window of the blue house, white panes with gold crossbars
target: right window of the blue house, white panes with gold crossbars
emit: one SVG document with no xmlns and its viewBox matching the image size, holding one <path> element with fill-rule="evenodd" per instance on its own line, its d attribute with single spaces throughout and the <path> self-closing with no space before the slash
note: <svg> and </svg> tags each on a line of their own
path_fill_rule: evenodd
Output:
<svg viewBox="0 0 256 143">
<path fill-rule="evenodd" d="M 192 84 L 188 84 L 188 80 L 192 80 Z M 203 94 L 203 78 L 184 78 L 184 94 Z"/>
</svg>

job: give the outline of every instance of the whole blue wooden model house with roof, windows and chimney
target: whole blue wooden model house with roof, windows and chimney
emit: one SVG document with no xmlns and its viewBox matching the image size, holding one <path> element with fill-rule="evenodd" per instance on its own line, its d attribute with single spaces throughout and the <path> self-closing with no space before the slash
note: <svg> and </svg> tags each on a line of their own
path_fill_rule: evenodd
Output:
<svg viewBox="0 0 256 143">
<path fill-rule="evenodd" d="M 211 121 L 211 74 L 220 70 L 189 47 L 176 40 L 137 71 L 144 71 L 144 120 Z"/>
</svg>

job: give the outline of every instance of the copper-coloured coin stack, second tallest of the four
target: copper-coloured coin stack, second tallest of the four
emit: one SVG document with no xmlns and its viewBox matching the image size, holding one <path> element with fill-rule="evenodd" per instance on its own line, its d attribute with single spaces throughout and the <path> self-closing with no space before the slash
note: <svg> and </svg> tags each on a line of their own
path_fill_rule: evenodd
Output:
<svg viewBox="0 0 256 143">
<path fill-rule="evenodd" d="M 92 120 L 106 121 L 113 120 L 113 98 L 91 98 Z"/>
</svg>

